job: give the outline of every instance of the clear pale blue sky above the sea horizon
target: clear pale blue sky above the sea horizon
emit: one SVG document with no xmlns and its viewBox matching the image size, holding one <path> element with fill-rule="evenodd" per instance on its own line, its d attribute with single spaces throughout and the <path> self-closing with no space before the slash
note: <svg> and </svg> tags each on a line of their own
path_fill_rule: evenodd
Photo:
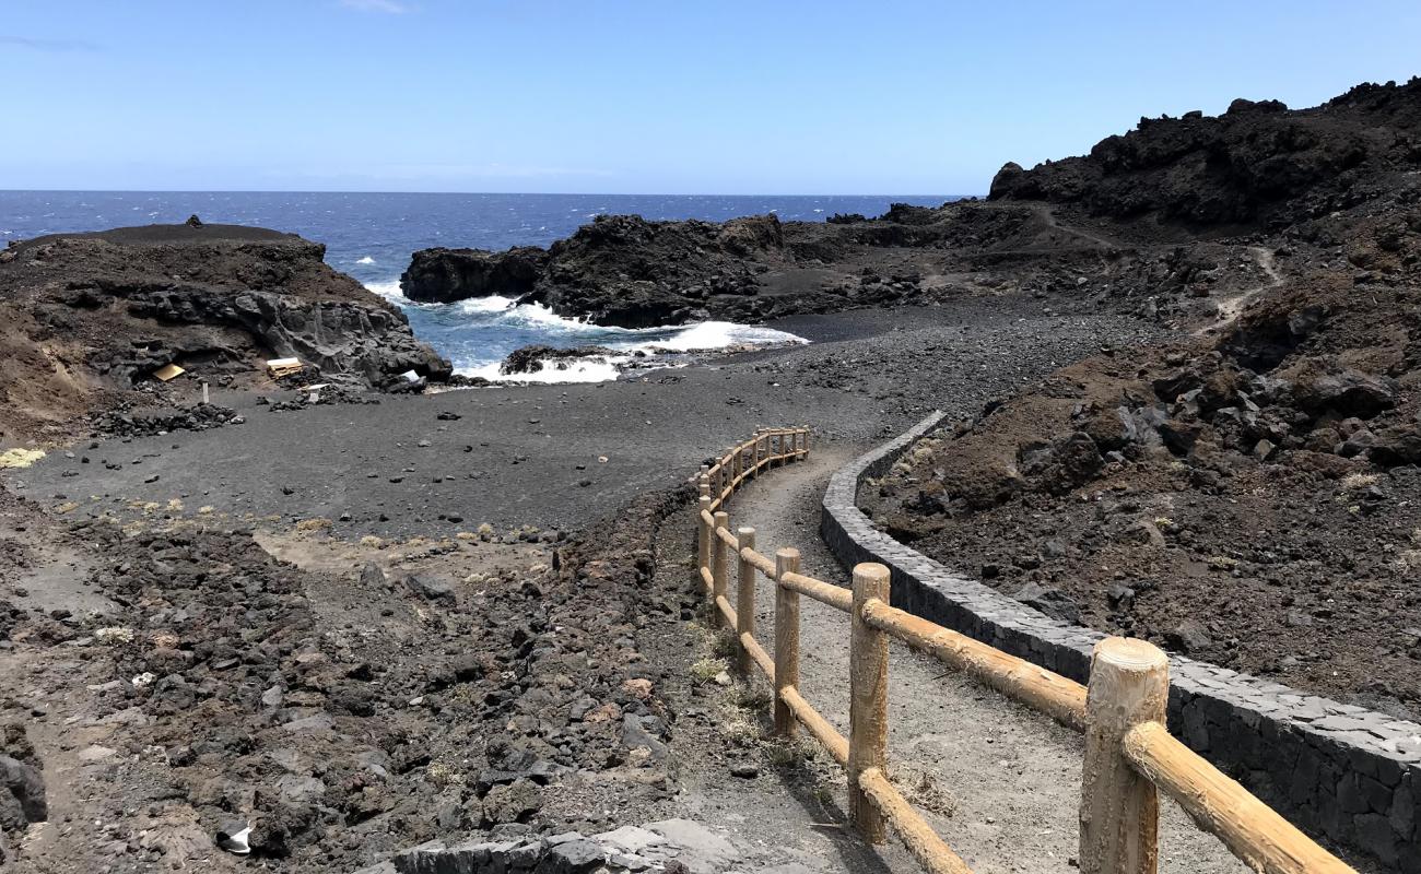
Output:
<svg viewBox="0 0 1421 874">
<path fill-rule="evenodd" d="M 1415 74 L 1417 0 L 3 0 L 0 189 L 982 193 Z"/>
</svg>

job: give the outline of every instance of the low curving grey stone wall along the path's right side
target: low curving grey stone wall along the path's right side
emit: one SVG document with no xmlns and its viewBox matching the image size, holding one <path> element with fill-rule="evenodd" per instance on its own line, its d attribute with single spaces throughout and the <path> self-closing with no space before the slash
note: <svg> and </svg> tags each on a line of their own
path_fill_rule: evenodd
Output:
<svg viewBox="0 0 1421 874">
<path fill-rule="evenodd" d="M 892 604 L 1050 671 L 1086 682 L 1104 635 L 1067 625 L 878 532 L 857 506 L 865 479 L 938 425 L 912 431 L 840 469 L 820 533 L 845 567 L 892 570 Z M 1314 837 L 1421 874 L 1421 725 L 1246 674 L 1169 657 L 1169 729 Z"/>
</svg>

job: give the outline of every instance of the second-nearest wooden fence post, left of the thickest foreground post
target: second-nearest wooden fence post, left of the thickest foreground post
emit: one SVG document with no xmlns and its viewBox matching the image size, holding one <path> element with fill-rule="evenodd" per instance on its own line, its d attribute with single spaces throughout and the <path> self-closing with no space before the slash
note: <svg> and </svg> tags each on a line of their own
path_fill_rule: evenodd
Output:
<svg viewBox="0 0 1421 874">
<path fill-rule="evenodd" d="M 882 814 L 858 786 L 865 770 L 888 773 L 888 635 L 864 620 L 864 604 L 888 603 L 888 568 L 854 567 L 854 613 L 848 647 L 848 817 L 868 844 L 887 840 Z"/>
</svg>

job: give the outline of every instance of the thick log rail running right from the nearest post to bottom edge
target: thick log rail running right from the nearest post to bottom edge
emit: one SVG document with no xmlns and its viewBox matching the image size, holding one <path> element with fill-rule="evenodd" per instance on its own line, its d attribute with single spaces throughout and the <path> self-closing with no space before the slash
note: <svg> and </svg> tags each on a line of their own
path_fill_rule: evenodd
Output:
<svg viewBox="0 0 1421 874">
<path fill-rule="evenodd" d="M 1177 800 L 1199 829 L 1211 831 L 1243 864 L 1266 874 L 1356 874 L 1202 756 L 1169 736 L 1160 722 L 1141 722 L 1123 740 L 1130 765 Z"/>
</svg>

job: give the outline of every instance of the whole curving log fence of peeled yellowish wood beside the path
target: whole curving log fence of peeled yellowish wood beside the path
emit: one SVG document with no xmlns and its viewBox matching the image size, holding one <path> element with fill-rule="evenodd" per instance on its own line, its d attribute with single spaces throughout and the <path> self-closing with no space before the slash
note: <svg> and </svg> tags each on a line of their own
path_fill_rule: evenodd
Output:
<svg viewBox="0 0 1421 874">
<path fill-rule="evenodd" d="M 1161 789 L 1255 871 L 1353 871 L 1169 735 L 1169 662 L 1157 647 L 1133 638 L 1101 641 L 1083 686 L 891 607 L 882 564 L 857 566 L 850 591 L 800 574 L 794 549 L 777 550 L 773 560 L 757 553 L 753 527 L 732 532 L 726 502 L 747 479 L 809 452 L 807 428 L 767 429 L 701 468 L 698 573 L 713 622 L 735 631 L 740 671 L 749 675 L 757 667 L 774 686 L 776 733 L 789 736 L 796 723 L 803 725 L 848 770 L 848 814 L 865 841 L 882 843 L 891 826 L 928 871 L 971 871 L 888 779 L 888 638 L 895 637 L 1086 735 L 1080 796 L 1080 870 L 1086 874 L 1155 871 Z M 732 556 L 733 604 L 728 595 Z M 773 655 L 755 638 L 760 576 L 774 583 Z M 800 694 L 801 595 L 850 614 L 848 738 Z"/>
</svg>

